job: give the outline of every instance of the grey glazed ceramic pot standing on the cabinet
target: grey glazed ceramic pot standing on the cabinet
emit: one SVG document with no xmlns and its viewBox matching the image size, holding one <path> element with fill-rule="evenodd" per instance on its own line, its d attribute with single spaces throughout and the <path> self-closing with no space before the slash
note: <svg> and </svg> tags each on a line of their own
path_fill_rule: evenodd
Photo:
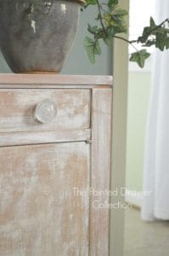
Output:
<svg viewBox="0 0 169 256">
<path fill-rule="evenodd" d="M 14 73 L 59 73 L 82 0 L 0 0 L 0 47 Z"/>
</svg>

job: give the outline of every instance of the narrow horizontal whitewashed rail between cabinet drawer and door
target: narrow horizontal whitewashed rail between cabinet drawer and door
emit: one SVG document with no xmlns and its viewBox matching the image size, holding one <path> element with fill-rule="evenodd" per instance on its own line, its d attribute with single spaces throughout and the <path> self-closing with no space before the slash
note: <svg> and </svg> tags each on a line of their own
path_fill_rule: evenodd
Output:
<svg viewBox="0 0 169 256">
<path fill-rule="evenodd" d="M 57 131 L 29 131 L 29 132 L 2 132 L 0 146 L 64 143 L 88 141 L 91 139 L 91 129 L 57 130 Z"/>
</svg>

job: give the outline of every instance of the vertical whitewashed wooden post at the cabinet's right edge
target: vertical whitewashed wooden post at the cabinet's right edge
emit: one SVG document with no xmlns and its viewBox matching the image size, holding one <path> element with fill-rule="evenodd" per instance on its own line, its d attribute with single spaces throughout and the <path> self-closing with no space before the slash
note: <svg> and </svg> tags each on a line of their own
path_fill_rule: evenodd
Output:
<svg viewBox="0 0 169 256">
<path fill-rule="evenodd" d="M 91 194 L 89 255 L 108 256 L 112 90 L 93 89 L 92 101 L 91 188 L 96 193 Z"/>
</svg>

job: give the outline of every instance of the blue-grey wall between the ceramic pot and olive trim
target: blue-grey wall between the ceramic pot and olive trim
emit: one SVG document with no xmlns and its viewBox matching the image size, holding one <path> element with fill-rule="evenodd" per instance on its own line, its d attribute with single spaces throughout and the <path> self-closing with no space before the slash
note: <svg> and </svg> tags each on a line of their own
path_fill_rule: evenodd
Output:
<svg viewBox="0 0 169 256">
<path fill-rule="evenodd" d="M 96 57 L 96 63 L 92 65 L 83 47 L 85 36 L 90 36 L 87 32 L 87 23 L 94 25 L 93 17 L 95 9 L 86 9 L 81 12 L 80 26 L 76 35 L 76 41 L 67 58 L 62 73 L 65 74 L 87 74 L 87 75 L 110 75 L 112 74 L 112 52 L 111 49 L 102 47 L 102 55 Z"/>
</svg>

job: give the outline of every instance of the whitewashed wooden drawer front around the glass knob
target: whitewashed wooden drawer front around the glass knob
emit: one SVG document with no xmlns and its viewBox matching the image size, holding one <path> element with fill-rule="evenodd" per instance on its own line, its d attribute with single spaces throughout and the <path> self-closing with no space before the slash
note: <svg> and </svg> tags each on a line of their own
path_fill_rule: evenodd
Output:
<svg viewBox="0 0 169 256">
<path fill-rule="evenodd" d="M 37 104 L 54 102 L 56 115 L 48 123 L 35 118 Z M 87 129 L 90 127 L 90 90 L 14 89 L 0 90 L 0 132 Z"/>
</svg>

